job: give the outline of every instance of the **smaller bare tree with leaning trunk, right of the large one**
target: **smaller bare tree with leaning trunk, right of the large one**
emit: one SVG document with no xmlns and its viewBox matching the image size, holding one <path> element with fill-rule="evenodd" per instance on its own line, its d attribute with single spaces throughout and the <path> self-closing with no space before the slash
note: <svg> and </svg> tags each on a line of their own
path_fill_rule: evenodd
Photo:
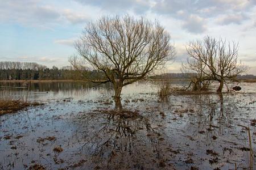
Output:
<svg viewBox="0 0 256 170">
<path fill-rule="evenodd" d="M 200 73 L 201 80 L 216 80 L 220 83 L 218 92 L 229 81 L 237 82 L 237 75 L 247 67 L 238 61 L 238 44 L 212 37 L 203 41 L 189 42 L 187 46 L 189 69 Z M 200 81 L 201 81 L 200 80 Z"/>
</svg>

